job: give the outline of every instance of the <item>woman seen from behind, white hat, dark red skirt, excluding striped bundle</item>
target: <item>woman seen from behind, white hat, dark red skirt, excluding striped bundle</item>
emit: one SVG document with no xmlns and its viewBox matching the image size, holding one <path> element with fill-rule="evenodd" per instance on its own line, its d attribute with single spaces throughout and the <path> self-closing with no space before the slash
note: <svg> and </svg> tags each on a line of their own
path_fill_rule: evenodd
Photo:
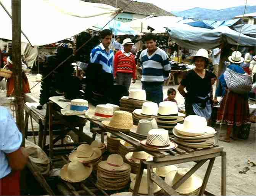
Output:
<svg viewBox="0 0 256 196">
<path fill-rule="evenodd" d="M 234 51 L 232 55 L 229 56 L 229 61 L 231 64 L 227 66 L 228 69 L 237 73 L 245 73 L 243 68 L 239 66 L 239 64 L 244 61 L 242 54 L 239 51 Z M 234 76 L 233 80 L 236 80 Z M 241 125 L 245 124 L 249 118 L 248 94 L 237 94 L 230 91 L 227 96 L 227 91 L 227 83 L 224 74 L 222 74 L 219 76 L 219 85 L 215 93 L 217 97 L 223 97 L 217 113 L 217 123 L 221 122 L 222 115 L 224 115 L 223 123 L 227 123 L 227 133 L 225 137 L 220 137 L 220 140 L 224 142 L 230 142 L 230 135 L 234 124 L 241 127 Z M 226 106 L 224 111 L 225 103 Z M 235 136 L 233 135 L 233 137 Z"/>
</svg>

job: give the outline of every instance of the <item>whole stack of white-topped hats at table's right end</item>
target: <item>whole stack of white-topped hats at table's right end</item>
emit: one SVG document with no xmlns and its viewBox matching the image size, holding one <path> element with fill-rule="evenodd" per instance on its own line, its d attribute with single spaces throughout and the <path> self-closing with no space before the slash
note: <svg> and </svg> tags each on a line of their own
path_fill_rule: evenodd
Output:
<svg viewBox="0 0 256 196">
<path fill-rule="evenodd" d="M 184 124 L 177 124 L 173 129 L 174 141 L 190 148 L 209 148 L 214 145 L 216 131 L 207 126 L 204 117 L 190 115 L 184 120 Z"/>
</svg>

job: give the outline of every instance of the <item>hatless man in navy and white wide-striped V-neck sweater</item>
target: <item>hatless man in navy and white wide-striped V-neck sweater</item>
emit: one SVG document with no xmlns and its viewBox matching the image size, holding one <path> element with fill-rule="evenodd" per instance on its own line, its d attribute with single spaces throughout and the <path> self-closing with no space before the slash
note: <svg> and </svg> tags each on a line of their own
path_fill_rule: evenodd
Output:
<svg viewBox="0 0 256 196">
<path fill-rule="evenodd" d="M 143 39 L 147 49 L 140 54 L 142 89 L 146 91 L 148 101 L 159 104 L 163 101 L 163 82 L 168 79 L 171 65 L 168 55 L 156 47 L 155 35 L 147 33 Z"/>
</svg>

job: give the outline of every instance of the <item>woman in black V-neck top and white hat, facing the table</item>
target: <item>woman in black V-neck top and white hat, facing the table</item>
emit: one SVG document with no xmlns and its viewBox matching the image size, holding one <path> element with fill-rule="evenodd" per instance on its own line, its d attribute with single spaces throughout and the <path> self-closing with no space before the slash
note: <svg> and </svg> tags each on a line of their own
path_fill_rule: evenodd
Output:
<svg viewBox="0 0 256 196">
<path fill-rule="evenodd" d="M 195 68 L 183 77 L 178 91 L 185 97 L 186 115 L 203 116 L 208 120 L 211 117 L 211 75 L 204 68 L 211 60 L 203 48 L 190 59 L 195 62 Z"/>
</svg>

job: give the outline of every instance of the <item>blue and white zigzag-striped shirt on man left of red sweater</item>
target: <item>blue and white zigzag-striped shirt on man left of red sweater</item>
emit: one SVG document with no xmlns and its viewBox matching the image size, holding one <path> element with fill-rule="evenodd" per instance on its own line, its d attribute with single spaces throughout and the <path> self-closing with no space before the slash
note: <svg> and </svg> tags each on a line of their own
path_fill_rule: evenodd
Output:
<svg viewBox="0 0 256 196">
<path fill-rule="evenodd" d="M 106 52 L 102 43 L 94 47 L 90 54 L 91 63 L 99 63 L 102 65 L 103 73 L 113 73 L 113 56 L 114 53 L 109 49 L 109 53 Z"/>
</svg>

